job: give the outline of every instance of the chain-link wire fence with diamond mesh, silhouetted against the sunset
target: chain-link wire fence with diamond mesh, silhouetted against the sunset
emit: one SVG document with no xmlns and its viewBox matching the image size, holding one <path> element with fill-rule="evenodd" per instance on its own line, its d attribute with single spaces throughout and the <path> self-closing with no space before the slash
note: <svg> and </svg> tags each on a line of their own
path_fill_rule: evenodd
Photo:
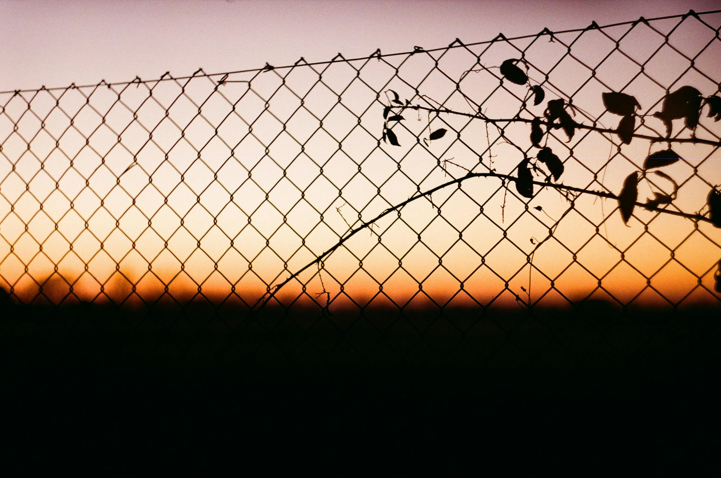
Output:
<svg viewBox="0 0 721 478">
<path fill-rule="evenodd" d="M 713 309 L 721 123 L 705 99 L 721 89 L 720 25 L 719 12 L 691 12 L 2 92 L 0 286 L 13 310 L 72 311 L 43 312 L 38 327 L 182 329 L 187 346 L 149 350 L 208 360 L 265 360 L 267 343 L 320 360 L 487 358 L 539 340 L 574 355 L 588 344 L 554 327 L 583 307 L 601 322 L 634 306 Z M 503 71 L 509 58 L 528 84 Z M 704 115 L 695 128 L 674 117 L 667 137 L 653 114 L 686 85 Z M 633 141 L 604 92 L 637 99 Z M 570 132 L 545 123 L 559 99 Z M 534 118 L 560 170 L 535 161 Z M 653 174 L 645 159 L 667 147 L 681 159 Z M 519 163 L 535 175 L 530 194 Z M 636 171 L 645 182 L 626 222 L 618 195 Z"/>
</svg>

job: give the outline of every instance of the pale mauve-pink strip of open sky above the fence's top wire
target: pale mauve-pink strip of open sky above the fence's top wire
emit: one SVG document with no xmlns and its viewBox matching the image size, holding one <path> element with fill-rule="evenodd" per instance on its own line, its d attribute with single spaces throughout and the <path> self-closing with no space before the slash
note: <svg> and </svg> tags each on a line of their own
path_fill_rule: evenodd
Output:
<svg viewBox="0 0 721 478">
<path fill-rule="evenodd" d="M 355 58 L 719 8 L 718 0 L 0 0 L 0 91 Z"/>
</svg>

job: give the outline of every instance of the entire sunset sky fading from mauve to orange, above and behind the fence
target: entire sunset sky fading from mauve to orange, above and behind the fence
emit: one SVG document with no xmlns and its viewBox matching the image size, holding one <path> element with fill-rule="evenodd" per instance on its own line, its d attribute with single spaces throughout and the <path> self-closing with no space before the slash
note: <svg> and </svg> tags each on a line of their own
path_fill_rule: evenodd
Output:
<svg viewBox="0 0 721 478">
<path fill-rule="evenodd" d="M 0 286 L 6 290 L 13 286 L 23 300 L 30 300 L 37 293 L 37 283 L 49 280 L 47 288 L 53 291 L 48 295 L 59 294 L 49 298 L 57 301 L 67 290 L 63 280 L 75 283 L 75 293 L 87 300 L 97 296 L 101 284 L 114 300 L 122 300 L 133 286 L 146 298 L 161 296 L 165 286 L 174 296 L 190 297 L 198 291 L 195 283 L 200 283 L 203 292 L 214 298 L 224 298 L 234 287 L 252 301 L 265 291 L 266 284 L 278 283 L 278 277 L 282 280 L 288 275 L 283 272 L 283 262 L 288 271 L 297 270 L 335 244 L 348 223 L 361 216 L 368 221 L 409 198 L 417 184 L 420 190 L 428 190 L 450 180 L 449 175 L 463 175 L 465 167 L 478 172 L 494 167 L 497 172 L 510 173 L 522 159 L 505 141 L 495 143 L 489 158 L 485 150 L 489 141 L 499 138 L 499 131 L 492 129 L 487 136 L 482 123 L 469 123 L 463 117 L 434 119 L 433 129 L 463 130 L 464 144 L 454 142 L 456 135 L 450 133 L 425 148 L 420 143 L 416 146 L 413 135 L 428 136 L 424 128 L 430 125 L 421 115 L 415 118 L 415 112 L 405 112 L 407 121 L 394 127 L 402 146 L 381 143 L 380 149 L 376 147 L 383 105 L 368 85 L 392 88 L 403 98 L 413 97 L 409 85 L 431 72 L 420 93 L 433 99 L 448 97 L 446 105 L 465 111 L 469 103 L 453 96 L 453 81 L 474 66 L 476 55 L 485 48 L 480 45 L 472 50 L 451 50 L 439 61 L 438 68 L 454 78 L 451 81 L 434 69 L 429 56 L 418 55 L 400 67 L 397 77 L 394 65 L 401 57 L 389 58 L 389 63 L 375 59 L 367 65 L 353 63 L 363 67 L 358 79 L 366 84 L 355 80 L 354 69 L 339 63 L 323 73 L 327 87 L 316 86 L 319 74 L 309 68 L 277 68 L 262 74 L 234 74 L 229 80 L 236 82 L 217 92 L 213 88 L 220 75 L 193 79 L 185 87 L 164 81 L 24 92 L 19 97 L 12 93 L 14 89 L 93 85 L 102 79 L 130 81 L 136 76 L 152 80 L 166 71 L 176 77 L 187 76 L 199 67 L 206 74 L 222 74 L 259 68 L 266 62 L 276 67 L 291 65 L 301 56 L 306 61 L 327 61 L 340 52 L 345 58 L 358 58 L 376 48 L 382 53 L 408 51 L 416 45 L 441 48 L 456 37 L 473 43 L 490 40 L 498 32 L 512 37 L 534 34 L 544 27 L 554 31 L 585 27 L 592 20 L 604 25 L 642 15 L 658 17 L 690 8 L 701 12 L 720 7 L 718 1 L 0 1 L 3 35 L 9 45 L 0 49 L 0 104 L 4 106 L 0 115 L 0 193 L 4 195 L 0 199 L 0 235 L 4 237 L 0 239 L 0 261 L 6 257 L 0 262 L 0 274 L 5 277 Z M 714 18 L 717 22 L 718 16 Z M 647 32 L 646 36 L 639 33 L 622 41 L 624 51 L 638 61 L 645 61 L 663 44 L 662 37 L 644 28 L 638 31 Z M 709 29 L 689 28 L 674 33 L 671 43 L 693 56 L 705 48 Z M 623 31 L 609 30 L 609 35 Z M 660 121 L 650 113 L 658 110 L 655 102 L 663 97 L 666 86 L 676 89 L 693 84 L 704 95 L 717 92 L 721 43 L 713 40 L 712 34 L 710 38 L 715 41 L 713 47 L 696 58 L 702 74 L 684 73 L 687 61 L 668 47 L 660 49 L 655 60 L 645 66 L 646 74 L 658 84 L 643 76 L 634 79 L 637 66 L 618 53 L 603 60 L 598 81 L 588 84 L 583 82 L 590 75 L 588 68 L 565 60 L 545 84 L 547 99 L 575 92 L 575 105 L 583 108 L 577 119 L 590 123 L 589 118 L 604 110 L 601 92 L 624 89 L 640 101 L 642 113 L 648 114 L 648 128 L 658 128 Z M 559 35 L 559 39 L 570 42 L 573 37 Z M 519 48 L 530 41 L 521 41 Z M 580 60 L 595 65 L 613 48 L 613 40 L 589 32 L 574 43 L 572 51 Z M 497 66 L 517 52 L 510 45 L 494 45 L 482 54 L 482 63 Z M 541 68 L 529 72 L 534 84 L 542 83 L 541 71 L 553 70 L 565 53 L 564 46 L 545 39 L 532 45 L 529 61 Z M 286 74 L 287 83 L 283 83 Z M 677 76 L 682 76 L 678 84 Z M 250 80 L 252 92 L 243 82 Z M 346 91 L 349 84 L 352 88 Z M 477 104 L 497 85 L 489 71 L 461 81 L 466 97 Z M 336 108 L 340 91 L 347 110 Z M 304 92 L 308 92 L 305 110 L 294 96 Z M 526 87 L 505 84 L 492 94 L 493 100 L 484 104 L 485 112 L 504 118 L 518 109 Z M 54 110 L 56 101 L 65 111 L 62 114 Z M 37 117 L 26 115 L 28 102 Z M 381 102 L 386 99 L 381 97 Z M 199 105 L 203 105 L 202 119 L 196 118 Z M 368 105 L 372 106 L 366 111 Z M 268 108 L 274 118 L 265 112 Z M 541 116 L 543 110 L 544 105 L 539 105 L 524 114 Z M 166 111 L 169 118 L 164 117 Z M 70 117 L 74 118 L 72 125 Z M 325 130 L 316 131 L 317 118 L 324 118 Z M 357 128 L 361 120 L 362 130 Z M 600 121 L 615 128 L 619 117 L 606 112 Z M 721 123 L 704 118 L 702 124 L 709 129 L 699 130 L 699 136 L 720 135 Z M 121 132 L 122 142 L 118 138 Z M 527 125 L 510 125 L 505 135 L 524 149 L 530 148 Z M 548 146 L 567 159 L 562 182 L 598 189 L 598 182 L 593 183 L 593 174 L 598 174 L 603 176 L 598 181 L 615 193 L 652 149 L 660 149 L 648 141 L 634 140 L 617 151 L 607 136 L 598 133 L 585 138 L 578 133 L 573 143 L 567 142 L 562 132 L 555 135 Z M 343 138 L 342 151 L 338 138 Z M 613 140 L 618 143 L 616 136 Z M 674 150 L 689 161 L 664 169 L 681 184 L 674 204 L 695 213 L 704 206 L 709 184 L 721 182 L 720 152 L 711 146 L 693 145 L 674 146 Z M 479 156 L 485 161 L 480 165 Z M 604 167 L 611 156 L 614 159 Z M 443 171 L 438 166 L 443 159 L 460 166 Z M 495 163 L 490 164 L 490 159 Z M 694 176 L 694 167 L 705 183 Z M 363 174 L 356 174 L 361 169 Z M 117 180 L 118 176 L 122 178 Z M 655 187 L 669 187 L 663 178 L 653 180 Z M 376 187 L 382 198 L 376 197 Z M 708 223 L 696 231 L 691 221 L 663 217 L 645 231 L 636 218 L 629 221 L 629 227 L 624 226 L 616 212 L 594 231 L 590 224 L 609 216 L 615 200 L 580 198 L 575 211 L 564 216 L 567 201 L 554 190 L 544 190 L 528 202 L 528 213 L 524 213 L 523 201 L 508 195 L 506 202 L 499 187 L 497 179 L 472 180 L 460 190 L 449 187 L 438 192 L 433 203 L 418 200 L 409 205 L 402 211 L 402 221 L 401 215 L 384 218 L 376 231 L 363 231 L 347 248 L 329 257 L 321 276 L 317 268 L 307 271 L 302 277 L 312 278 L 308 293 L 317 295 L 325 288 L 334 296 L 340 294 L 337 304 L 342 305 L 348 304 L 341 293 L 345 291 L 363 303 L 378 293 L 375 280 L 379 280 L 384 283 L 384 293 L 403 304 L 418 292 L 417 280 L 421 280 L 424 291 L 441 303 L 459 291 L 461 282 L 464 291 L 481 303 L 508 286 L 513 293 L 526 293 L 526 288 L 535 291 L 534 301 L 552 289 L 544 304 L 558 305 L 563 301 L 557 292 L 573 300 L 588 296 L 598 285 L 594 275 L 603 277 L 606 291 L 624 303 L 645 290 L 644 275 L 653 276 L 650 284 L 672 301 L 680 301 L 696 287 L 696 275 L 703 276 L 705 287 L 713 287 L 711 267 L 721 257 L 714 242 L 721 242 L 721 234 Z M 652 191 L 642 185 L 639 200 L 653 196 Z M 476 217 L 479 203 L 485 204 L 486 216 Z M 439 219 L 439 204 L 444 204 L 443 220 Z M 535 206 L 542 206 L 542 211 L 533 210 Z M 636 213 L 644 221 L 653 217 L 649 211 Z M 287 223 L 283 215 L 288 216 Z M 252 216 L 253 227 L 246 227 L 248 216 Z M 548 228 L 562 216 L 553 231 L 555 239 L 534 252 L 534 266 L 547 277 L 535 273 L 529 283 L 526 254 L 535 250 L 534 244 L 543 240 Z M 508 229 L 506 241 L 503 228 L 516 218 L 521 219 Z M 152 229 L 146 229 L 150 219 Z M 314 229 L 317 223 L 320 226 Z M 423 244 L 416 243 L 421 231 Z M 459 241 L 459 231 L 463 241 Z M 687 236 L 690 239 L 686 240 Z M 634 244 L 638 237 L 642 239 Z M 303 247 L 301 240 L 306 241 Z M 500 246 L 494 245 L 497 242 Z M 681 242 L 684 244 L 676 248 Z M 196 250 L 197 244 L 203 251 Z M 266 245 L 274 252 L 264 249 Z M 617 265 L 623 257 L 614 247 L 626 251 L 627 262 Z M 573 263 L 577 253 L 578 263 Z M 445 269 L 438 267 L 435 254 L 443 256 Z M 252 273 L 247 257 L 255 257 Z M 360 273 L 356 273 L 358 257 L 364 262 Z M 404 271 L 396 270 L 398 257 L 403 257 Z M 84 269 L 86 264 L 89 267 Z M 63 280 L 53 275 L 56 265 Z M 120 278 L 121 274 L 127 280 Z M 290 301 L 300 291 L 301 286 L 293 284 L 280 296 Z M 658 303 L 655 292 L 646 292 L 647 297 L 638 301 Z M 472 304 L 464 294 L 454 304 Z M 594 298 L 608 298 L 603 294 Z M 694 300 L 712 298 L 705 294 Z M 500 299 L 503 304 L 513 301 L 512 293 Z"/>
</svg>

